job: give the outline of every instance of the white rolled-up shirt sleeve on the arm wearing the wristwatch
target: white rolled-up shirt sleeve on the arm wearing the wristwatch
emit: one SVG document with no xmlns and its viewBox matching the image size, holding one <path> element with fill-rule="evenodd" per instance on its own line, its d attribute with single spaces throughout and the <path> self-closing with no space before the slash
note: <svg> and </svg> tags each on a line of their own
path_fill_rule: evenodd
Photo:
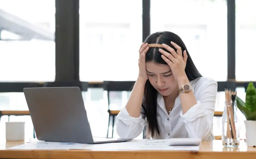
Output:
<svg viewBox="0 0 256 159">
<path fill-rule="evenodd" d="M 180 112 L 190 138 L 206 140 L 210 135 L 213 125 L 217 87 L 215 80 L 206 80 L 198 83 L 197 92 L 200 95 L 198 96 L 197 104 L 191 107 L 185 114 L 182 111 Z"/>
</svg>

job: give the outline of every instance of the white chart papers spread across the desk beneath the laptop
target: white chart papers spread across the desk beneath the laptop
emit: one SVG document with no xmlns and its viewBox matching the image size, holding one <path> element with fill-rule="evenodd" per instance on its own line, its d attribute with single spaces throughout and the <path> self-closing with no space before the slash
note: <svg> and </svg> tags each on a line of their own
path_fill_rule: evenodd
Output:
<svg viewBox="0 0 256 159">
<path fill-rule="evenodd" d="M 148 142 L 146 142 L 148 141 Z M 153 140 L 132 140 L 127 142 L 79 144 L 37 141 L 10 147 L 15 150 L 71 150 L 84 149 L 94 151 L 136 151 L 136 150 L 169 150 L 169 151 L 198 151 L 199 146 L 167 146 L 164 142 L 153 143 Z"/>
</svg>

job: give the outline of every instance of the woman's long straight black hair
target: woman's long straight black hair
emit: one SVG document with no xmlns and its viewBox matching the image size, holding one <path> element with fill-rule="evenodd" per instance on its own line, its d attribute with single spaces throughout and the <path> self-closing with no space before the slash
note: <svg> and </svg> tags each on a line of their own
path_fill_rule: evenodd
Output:
<svg viewBox="0 0 256 159">
<path fill-rule="evenodd" d="M 170 44 L 171 41 L 173 41 L 174 43 L 176 43 L 178 46 L 181 47 L 182 55 L 183 55 L 183 51 L 186 50 L 188 58 L 187 58 L 187 63 L 185 67 L 185 72 L 188 77 L 188 80 L 191 81 L 198 77 L 202 77 L 202 75 L 197 70 L 195 64 L 193 63 L 185 44 L 183 43 L 182 39 L 178 35 L 169 31 L 156 32 L 148 36 L 144 42 L 148 44 L 166 44 L 172 47 L 175 51 L 177 51 L 177 49 L 175 49 Z M 162 49 L 165 50 L 166 52 L 169 52 L 165 48 L 162 48 Z M 162 59 L 161 55 L 162 54 L 158 51 L 158 48 L 153 48 L 153 47 L 149 48 L 149 50 L 146 53 L 146 62 L 154 61 L 155 63 L 158 63 L 158 64 L 168 65 Z M 157 107 L 157 90 L 151 85 L 149 80 L 147 80 L 145 84 L 145 89 L 144 89 L 144 100 L 142 103 L 142 108 L 147 117 L 147 128 L 146 128 L 147 138 L 150 138 L 150 137 L 153 138 L 155 134 L 157 136 L 160 134 L 160 129 L 159 129 L 157 116 L 156 116 L 156 107 Z"/>
</svg>

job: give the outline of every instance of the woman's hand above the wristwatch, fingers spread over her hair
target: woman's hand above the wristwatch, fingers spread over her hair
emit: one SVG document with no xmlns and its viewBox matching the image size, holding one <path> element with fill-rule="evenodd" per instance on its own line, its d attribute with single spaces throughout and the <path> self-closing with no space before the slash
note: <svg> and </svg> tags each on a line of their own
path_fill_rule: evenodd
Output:
<svg viewBox="0 0 256 159">
<path fill-rule="evenodd" d="M 171 54 L 169 54 L 168 52 L 164 51 L 161 48 L 159 48 L 159 52 L 163 54 L 161 57 L 170 66 L 174 79 L 177 81 L 179 80 L 179 78 L 187 77 L 185 73 L 185 67 L 186 67 L 188 56 L 187 56 L 186 50 L 184 50 L 183 51 L 184 57 L 182 57 L 181 47 L 172 41 L 171 41 L 171 44 L 177 49 L 177 52 L 175 52 L 173 48 L 171 48 L 166 44 L 162 44 L 162 46 L 166 50 L 170 51 Z"/>
</svg>

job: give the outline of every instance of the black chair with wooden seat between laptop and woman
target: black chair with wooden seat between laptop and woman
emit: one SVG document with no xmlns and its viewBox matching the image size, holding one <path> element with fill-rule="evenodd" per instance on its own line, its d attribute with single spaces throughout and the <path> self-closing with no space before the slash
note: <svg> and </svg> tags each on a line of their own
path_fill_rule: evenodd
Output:
<svg viewBox="0 0 256 159">
<path fill-rule="evenodd" d="M 118 115 L 120 110 L 110 110 L 110 91 L 131 91 L 135 81 L 103 81 L 103 89 L 108 92 L 108 113 L 109 113 L 109 123 L 108 123 L 108 132 L 109 135 L 109 126 L 110 118 L 112 117 L 112 137 L 114 133 L 114 124 L 115 117 Z"/>
</svg>

